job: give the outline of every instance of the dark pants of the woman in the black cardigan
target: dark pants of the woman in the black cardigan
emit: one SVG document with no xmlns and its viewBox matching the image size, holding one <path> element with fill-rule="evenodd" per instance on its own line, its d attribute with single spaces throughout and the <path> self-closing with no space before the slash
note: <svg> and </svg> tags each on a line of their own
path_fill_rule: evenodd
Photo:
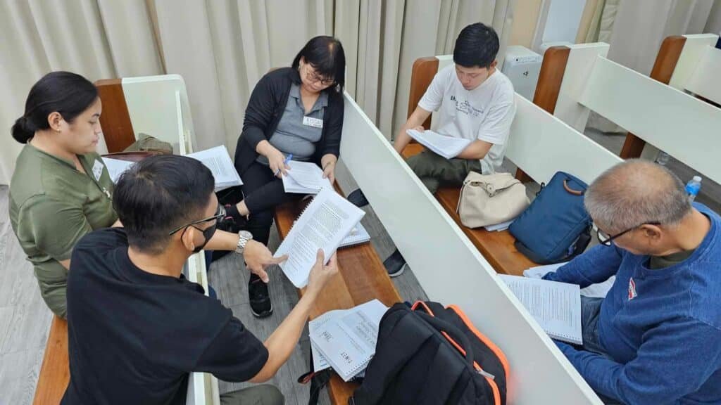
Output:
<svg viewBox="0 0 721 405">
<path fill-rule="evenodd" d="M 300 195 L 286 193 L 283 189 L 283 180 L 273 176 L 270 167 L 257 161 L 243 173 L 242 179 L 245 205 L 250 213 L 245 229 L 253 234 L 255 241 L 267 245 L 275 207 Z"/>
</svg>

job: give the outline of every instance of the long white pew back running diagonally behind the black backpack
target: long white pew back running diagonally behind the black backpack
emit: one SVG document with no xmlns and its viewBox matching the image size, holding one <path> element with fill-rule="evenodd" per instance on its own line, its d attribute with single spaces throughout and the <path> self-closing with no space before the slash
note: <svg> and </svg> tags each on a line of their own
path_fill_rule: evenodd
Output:
<svg viewBox="0 0 721 405">
<path fill-rule="evenodd" d="M 508 404 L 601 404 L 348 94 L 341 156 L 428 297 L 459 305 L 505 352 Z"/>
</svg>

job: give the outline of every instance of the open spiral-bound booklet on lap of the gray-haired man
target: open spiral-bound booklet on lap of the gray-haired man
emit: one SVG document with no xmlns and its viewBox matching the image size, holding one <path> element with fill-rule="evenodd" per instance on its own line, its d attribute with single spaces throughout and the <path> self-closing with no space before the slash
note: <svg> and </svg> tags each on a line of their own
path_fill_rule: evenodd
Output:
<svg viewBox="0 0 721 405">
<path fill-rule="evenodd" d="M 581 295 L 575 284 L 515 275 L 498 275 L 549 337 L 583 344 Z"/>
</svg>

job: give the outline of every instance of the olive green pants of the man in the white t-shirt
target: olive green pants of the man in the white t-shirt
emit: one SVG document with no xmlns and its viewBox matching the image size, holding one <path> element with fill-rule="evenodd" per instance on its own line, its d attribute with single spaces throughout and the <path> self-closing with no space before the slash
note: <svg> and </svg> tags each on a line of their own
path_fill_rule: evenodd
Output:
<svg viewBox="0 0 721 405">
<path fill-rule="evenodd" d="M 441 186 L 460 186 L 469 172 L 481 172 L 481 162 L 468 159 L 446 159 L 425 150 L 407 159 L 407 164 L 431 193 Z"/>
</svg>

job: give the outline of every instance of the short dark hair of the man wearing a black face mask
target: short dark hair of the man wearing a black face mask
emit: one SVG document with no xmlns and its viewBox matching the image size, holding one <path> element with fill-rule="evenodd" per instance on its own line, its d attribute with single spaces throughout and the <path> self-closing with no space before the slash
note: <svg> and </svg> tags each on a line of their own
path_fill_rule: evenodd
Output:
<svg viewBox="0 0 721 405">
<path fill-rule="evenodd" d="M 161 253 L 174 228 L 203 218 L 215 181 L 200 161 L 187 156 L 151 156 L 123 173 L 112 207 L 141 252 Z"/>
</svg>

